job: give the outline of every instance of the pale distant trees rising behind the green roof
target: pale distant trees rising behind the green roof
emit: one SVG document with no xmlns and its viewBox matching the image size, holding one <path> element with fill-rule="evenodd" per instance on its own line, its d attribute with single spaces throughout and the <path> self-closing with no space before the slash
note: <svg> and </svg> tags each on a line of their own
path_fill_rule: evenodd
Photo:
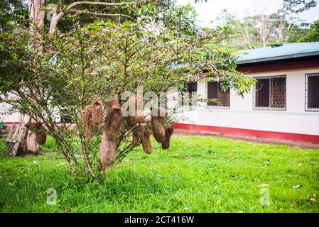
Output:
<svg viewBox="0 0 319 227">
<path fill-rule="evenodd" d="M 217 30 L 232 31 L 238 38 L 228 42 L 234 48 L 253 49 L 273 44 L 299 43 L 307 40 L 317 40 L 315 32 L 313 38 L 306 38 L 311 30 L 315 31 L 315 23 L 304 23 L 298 13 L 316 6 L 316 1 L 283 1 L 283 6 L 277 13 L 265 15 L 263 13 L 245 18 L 236 18 L 232 13 L 223 10 L 216 18 Z M 242 38 L 240 38 L 242 37 Z"/>
</svg>

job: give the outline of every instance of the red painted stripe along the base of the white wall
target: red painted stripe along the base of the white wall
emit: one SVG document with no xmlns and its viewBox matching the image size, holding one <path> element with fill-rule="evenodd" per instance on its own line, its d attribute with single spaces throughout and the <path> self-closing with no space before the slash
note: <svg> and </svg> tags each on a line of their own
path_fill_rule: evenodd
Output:
<svg viewBox="0 0 319 227">
<path fill-rule="evenodd" d="M 258 131 L 243 128 L 225 128 L 217 126 L 198 126 L 185 123 L 174 123 L 174 128 L 185 129 L 189 131 L 197 132 L 210 132 L 210 133 L 220 133 L 220 134 L 230 134 L 230 135 L 245 135 L 253 136 L 259 138 L 275 138 L 281 140 L 292 140 L 292 141 L 302 141 L 310 143 L 319 143 L 319 135 L 306 135 L 306 134 L 296 134 L 296 133 L 279 133 L 272 131 Z"/>
</svg>

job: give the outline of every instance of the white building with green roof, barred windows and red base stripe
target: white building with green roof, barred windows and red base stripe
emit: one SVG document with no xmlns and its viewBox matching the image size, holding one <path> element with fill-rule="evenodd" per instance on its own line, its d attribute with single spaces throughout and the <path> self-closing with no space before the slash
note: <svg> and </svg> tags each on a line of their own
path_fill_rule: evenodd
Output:
<svg viewBox="0 0 319 227">
<path fill-rule="evenodd" d="M 245 51 L 238 70 L 256 78 L 244 98 L 217 82 L 190 83 L 205 104 L 185 113 L 175 128 L 319 143 L 319 43 L 293 43 Z"/>
</svg>

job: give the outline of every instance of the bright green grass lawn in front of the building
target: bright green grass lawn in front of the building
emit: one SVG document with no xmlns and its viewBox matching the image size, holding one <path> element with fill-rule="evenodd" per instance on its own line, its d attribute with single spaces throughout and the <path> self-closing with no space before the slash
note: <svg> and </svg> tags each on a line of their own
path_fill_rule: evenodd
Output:
<svg viewBox="0 0 319 227">
<path fill-rule="evenodd" d="M 102 183 L 75 184 L 49 140 L 37 157 L 6 157 L 2 212 L 318 212 L 319 150 L 224 138 L 173 138 L 169 150 L 133 151 Z M 293 189 L 294 185 L 302 185 Z M 46 203 L 49 188 L 58 204 Z M 270 205 L 261 206 L 261 189 Z"/>
</svg>

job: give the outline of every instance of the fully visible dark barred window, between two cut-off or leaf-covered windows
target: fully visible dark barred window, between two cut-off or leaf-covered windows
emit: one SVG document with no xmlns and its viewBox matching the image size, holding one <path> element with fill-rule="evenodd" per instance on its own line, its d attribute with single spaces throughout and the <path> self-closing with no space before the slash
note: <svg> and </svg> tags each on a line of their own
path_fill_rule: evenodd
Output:
<svg viewBox="0 0 319 227">
<path fill-rule="evenodd" d="M 254 109 L 286 110 L 286 76 L 255 77 Z"/>
</svg>

